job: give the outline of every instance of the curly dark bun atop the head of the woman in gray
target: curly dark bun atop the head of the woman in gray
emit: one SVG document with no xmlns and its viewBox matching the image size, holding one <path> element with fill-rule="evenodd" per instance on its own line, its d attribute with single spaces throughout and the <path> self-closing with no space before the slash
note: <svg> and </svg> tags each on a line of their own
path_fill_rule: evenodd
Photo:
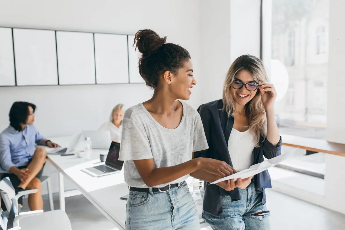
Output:
<svg viewBox="0 0 345 230">
<path fill-rule="evenodd" d="M 167 37 L 160 38 L 159 35 L 150 29 L 139 30 L 134 37 L 135 47 L 143 56 L 149 56 L 157 51 L 166 42 Z"/>
</svg>

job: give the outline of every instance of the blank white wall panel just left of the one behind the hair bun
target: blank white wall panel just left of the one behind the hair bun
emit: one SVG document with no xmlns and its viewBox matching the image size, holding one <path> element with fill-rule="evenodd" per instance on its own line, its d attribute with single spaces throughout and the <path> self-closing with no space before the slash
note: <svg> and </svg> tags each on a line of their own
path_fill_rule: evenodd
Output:
<svg viewBox="0 0 345 230">
<path fill-rule="evenodd" d="M 94 36 L 97 84 L 129 83 L 127 35 Z"/>
</svg>

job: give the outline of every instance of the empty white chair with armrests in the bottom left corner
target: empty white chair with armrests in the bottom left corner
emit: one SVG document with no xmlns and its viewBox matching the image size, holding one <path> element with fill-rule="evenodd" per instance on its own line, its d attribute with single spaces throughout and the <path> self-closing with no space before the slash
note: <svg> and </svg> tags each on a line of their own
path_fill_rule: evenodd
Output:
<svg viewBox="0 0 345 230">
<path fill-rule="evenodd" d="M 20 224 L 21 230 L 71 230 L 71 222 L 65 211 L 54 210 L 43 212 L 43 210 L 30 211 L 30 212 L 21 212 L 19 213 L 18 209 L 18 198 L 24 194 L 30 194 L 37 192 L 37 189 L 24 190 L 22 192 L 14 191 L 12 183 L 9 181 L 9 178 L 3 178 L 0 181 L 0 194 L 4 204 L 8 210 L 15 210 L 15 218 L 13 221 L 13 227 L 17 227 Z M 24 218 L 31 215 L 30 218 Z M 20 221 L 19 221 L 20 220 Z M 20 223 L 19 223 L 20 222 Z"/>
</svg>

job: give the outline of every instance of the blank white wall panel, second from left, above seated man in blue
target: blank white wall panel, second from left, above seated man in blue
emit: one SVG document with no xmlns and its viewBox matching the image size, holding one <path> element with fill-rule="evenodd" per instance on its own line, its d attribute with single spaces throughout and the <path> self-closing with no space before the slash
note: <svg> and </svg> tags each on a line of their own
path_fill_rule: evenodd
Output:
<svg viewBox="0 0 345 230">
<path fill-rule="evenodd" d="M 55 31 L 13 29 L 17 86 L 57 85 Z"/>
</svg>

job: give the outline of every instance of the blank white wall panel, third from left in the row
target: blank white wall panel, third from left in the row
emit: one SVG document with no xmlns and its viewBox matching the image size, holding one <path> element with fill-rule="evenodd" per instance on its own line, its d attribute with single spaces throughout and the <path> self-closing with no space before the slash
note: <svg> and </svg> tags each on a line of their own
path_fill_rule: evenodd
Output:
<svg viewBox="0 0 345 230">
<path fill-rule="evenodd" d="M 59 84 L 95 84 L 93 33 L 56 31 Z"/>
</svg>

